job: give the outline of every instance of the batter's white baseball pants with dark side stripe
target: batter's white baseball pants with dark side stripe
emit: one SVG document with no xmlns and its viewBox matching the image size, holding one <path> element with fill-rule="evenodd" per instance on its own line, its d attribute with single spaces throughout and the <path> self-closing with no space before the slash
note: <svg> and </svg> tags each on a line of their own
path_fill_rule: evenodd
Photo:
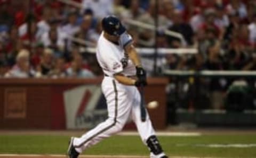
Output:
<svg viewBox="0 0 256 158">
<path fill-rule="evenodd" d="M 101 88 L 107 100 L 108 119 L 82 137 L 75 138 L 73 145 L 76 151 L 82 153 L 83 150 L 97 144 L 103 138 L 118 133 L 130 117 L 137 126 L 142 142 L 146 145 L 148 137 L 155 135 L 155 131 L 148 113 L 146 121 L 141 121 L 140 93 L 137 87 L 123 85 L 115 81 L 114 78 L 105 76 Z"/>
</svg>

